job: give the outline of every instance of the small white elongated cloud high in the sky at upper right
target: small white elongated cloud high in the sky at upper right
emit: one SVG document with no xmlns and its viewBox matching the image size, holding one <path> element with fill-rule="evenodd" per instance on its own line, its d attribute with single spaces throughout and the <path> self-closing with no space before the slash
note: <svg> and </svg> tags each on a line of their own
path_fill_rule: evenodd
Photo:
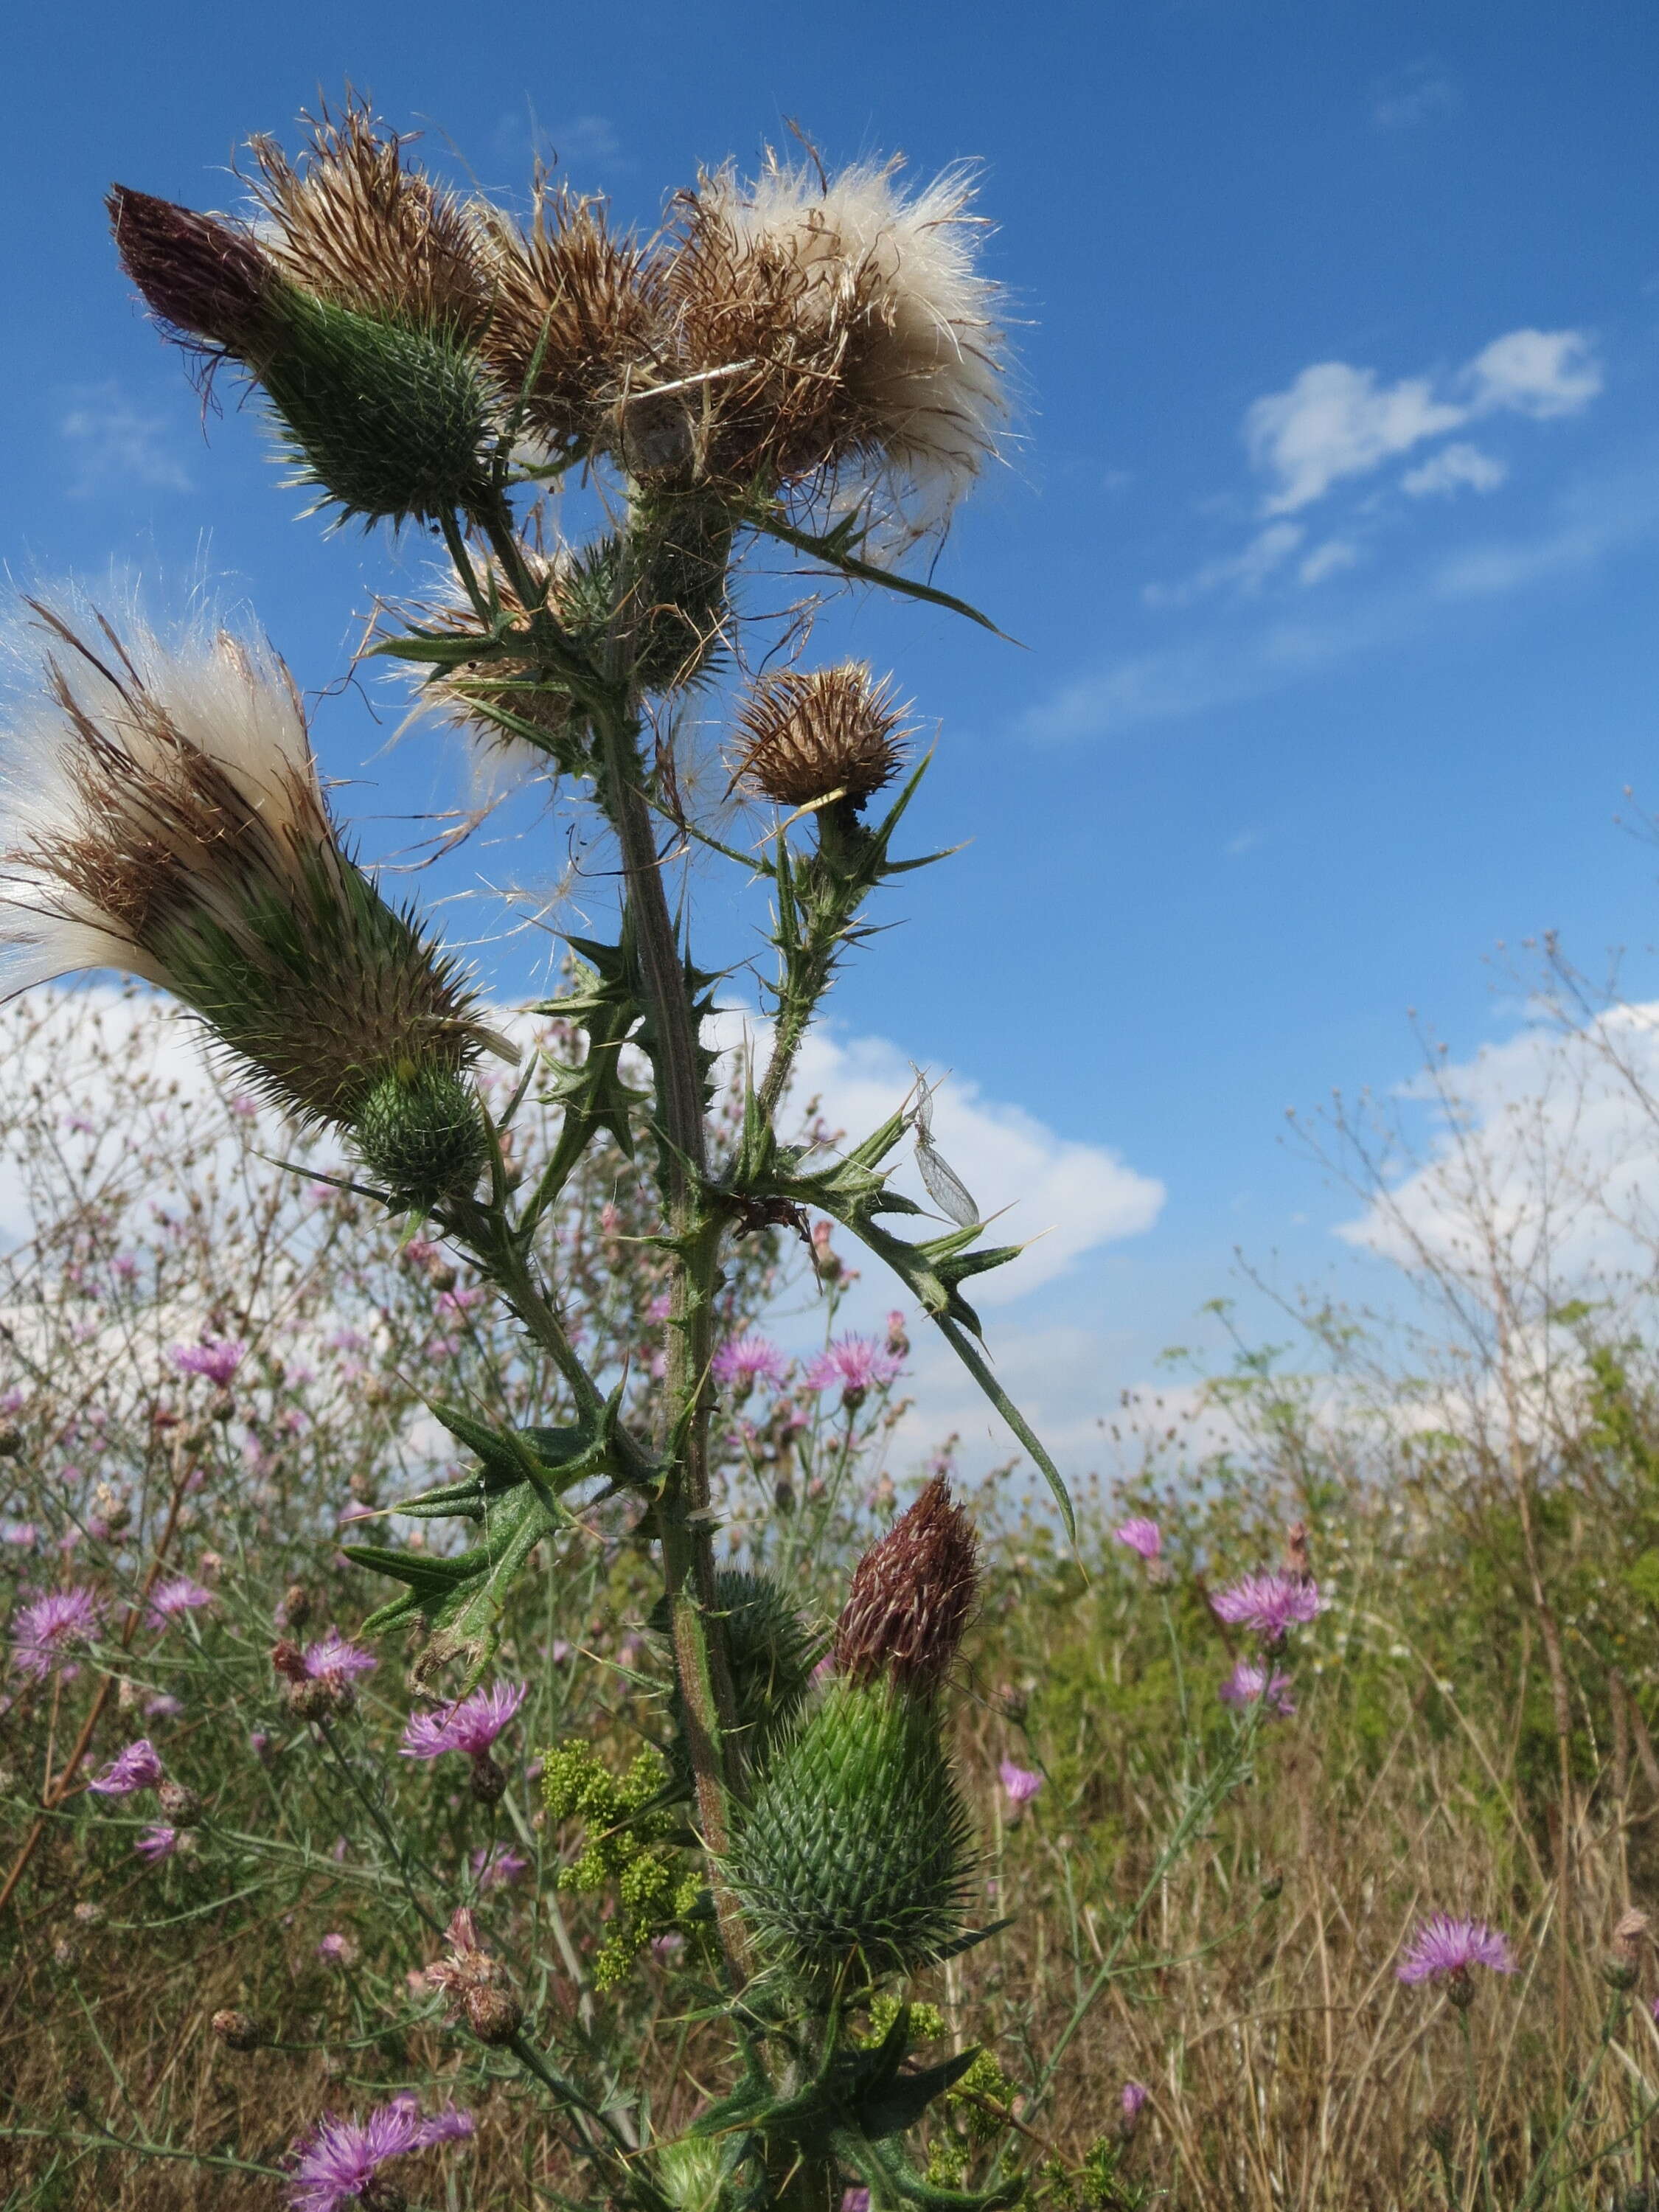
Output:
<svg viewBox="0 0 1659 2212">
<path fill-rule="evenodd" d="M 1590 338 L 1582 330 L 1511 330 L 1493 338 L 1436 392 L 1431 376 L 1385 385 L 1376 369 L 1316 361 L 1285 392 L 1252 400 L 1243 440 L 1252 467 L 1276 480 L 1263 513 L 1287 515 L 1323 500 L 1332 484 L 1369 476 L 1429 438 L 1478 416 L 1533 420 L 1577 414 L 1601 389 Z"/>
</svg>

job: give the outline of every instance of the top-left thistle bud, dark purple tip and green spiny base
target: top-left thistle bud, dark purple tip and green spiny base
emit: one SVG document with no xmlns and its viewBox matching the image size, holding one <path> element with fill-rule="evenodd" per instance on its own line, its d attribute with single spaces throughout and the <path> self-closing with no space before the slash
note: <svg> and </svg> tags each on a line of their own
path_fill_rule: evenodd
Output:
<svg viewBox="0 0 1659 2212">
<path fill-rule="evenodd" d="M 487 504 L 491 394 L 465 325 L 319 296 L 283 272 L 281 248 L 150 192 L 117 184 L 108 210 L 150 312 L 263 385 L 323 502 L 394 524 Z"/>
</svg>

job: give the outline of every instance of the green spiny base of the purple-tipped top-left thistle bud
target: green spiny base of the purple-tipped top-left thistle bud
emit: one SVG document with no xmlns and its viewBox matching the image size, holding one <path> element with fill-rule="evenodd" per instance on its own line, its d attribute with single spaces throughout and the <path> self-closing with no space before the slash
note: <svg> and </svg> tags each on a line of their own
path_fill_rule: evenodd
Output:
<svg viewBox="0 0 1659 2212">
<path fill-rule="evenodd" d="M 283 285 L 250 358 L 299 462 L 341 520 L 436 520 L 489 500 L 489 392 L 447 330 L 380 321 Z"/>
</svg>

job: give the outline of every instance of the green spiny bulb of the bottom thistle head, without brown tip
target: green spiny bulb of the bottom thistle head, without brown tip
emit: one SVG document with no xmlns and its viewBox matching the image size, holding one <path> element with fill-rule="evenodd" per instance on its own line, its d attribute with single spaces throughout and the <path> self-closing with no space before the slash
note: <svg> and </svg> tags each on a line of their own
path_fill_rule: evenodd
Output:
<svg viewBox="0 0 1659 2212">
<path fill-rule="evenodd" d="M 814 1975 L 907 1973 L 962 1933 L 969 1812 L 927 1699 L 834 1681 L 737 1816 L 728 1876 L 763 1942 Z"/>
</svg>

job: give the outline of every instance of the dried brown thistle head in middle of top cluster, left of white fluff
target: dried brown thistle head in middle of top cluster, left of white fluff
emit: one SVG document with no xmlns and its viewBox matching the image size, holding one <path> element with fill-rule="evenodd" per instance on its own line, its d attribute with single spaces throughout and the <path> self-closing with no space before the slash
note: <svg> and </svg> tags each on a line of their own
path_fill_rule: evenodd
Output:
<svg viewBox="0 0 1659 2212">
<path fill-rule="evenodd" d="M 471 210 L 493 305 L 484 358 L 549 445 L 586 445 L 664 352 L 659 265 L 615 237 L 602 199 L 535 179 L 529 230 L 484 201 Z"/>
</svg>

